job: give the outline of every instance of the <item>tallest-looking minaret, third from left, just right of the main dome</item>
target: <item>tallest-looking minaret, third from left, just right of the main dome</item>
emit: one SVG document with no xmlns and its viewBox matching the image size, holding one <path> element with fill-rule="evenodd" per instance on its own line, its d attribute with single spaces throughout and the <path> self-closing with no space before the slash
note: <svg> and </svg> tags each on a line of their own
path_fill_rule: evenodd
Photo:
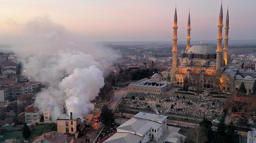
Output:
<svg viewBox="0 0 256 143">
<path fill-rule="evenodd" d="M 216 70 L 219 70 L 221 67 L 221 51 L 222 51 L 222 27 L 223 27 L 223 11 L 222 11 L 222 2 L 219 12 L 219 24 L 218 24 L 218 37 L 217 37 L 217 56 L 216 56 Z"/>
</svg>

